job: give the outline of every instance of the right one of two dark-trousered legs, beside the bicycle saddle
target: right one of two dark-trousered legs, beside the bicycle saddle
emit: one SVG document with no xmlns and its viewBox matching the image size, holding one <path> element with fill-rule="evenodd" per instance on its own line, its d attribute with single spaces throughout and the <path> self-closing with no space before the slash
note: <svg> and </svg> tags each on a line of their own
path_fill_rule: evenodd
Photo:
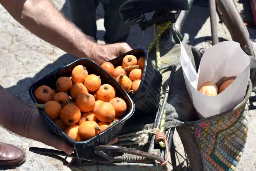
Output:
<svg viewBox="0 0 256 171">
<path fill-rule="evenodd" d="M 129 36 L 132 22 L 123 24 L 119 14 L 119 7 L 125 1 L 127 0 L 110 0 L 109 3 L 103 3 L 105 10 L 104 26 L 106 29 L 104 40 L 107 44 L 125 42 Z"/>
</svg>

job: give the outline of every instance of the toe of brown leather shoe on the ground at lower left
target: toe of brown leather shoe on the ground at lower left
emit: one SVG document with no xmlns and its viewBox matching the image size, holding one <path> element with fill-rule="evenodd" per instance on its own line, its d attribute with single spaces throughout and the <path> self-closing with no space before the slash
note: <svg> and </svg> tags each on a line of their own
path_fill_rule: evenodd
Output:
<svg viewBox="0 0 256 171">
<path fill-rule="evenodd" d="M 14 145 L 0 143 L 0 170 L 14 169 L 25 163 L 26 153 Z"/>
</svg>

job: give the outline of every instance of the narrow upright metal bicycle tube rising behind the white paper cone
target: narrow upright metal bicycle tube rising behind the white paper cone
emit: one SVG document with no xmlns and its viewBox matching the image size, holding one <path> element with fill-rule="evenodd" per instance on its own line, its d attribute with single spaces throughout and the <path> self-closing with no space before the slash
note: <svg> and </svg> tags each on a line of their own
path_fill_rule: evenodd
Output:
<svg viewBox="0 0 256 171">
<path fill-rule="evenodd" d="M 211 31 L 212 31 L 212 45 L 215 45 L 219 42 L 215 0 L 209 0 L 209 8 L 210 8 L 210 21 L 211 21 Z"/>
</svg>

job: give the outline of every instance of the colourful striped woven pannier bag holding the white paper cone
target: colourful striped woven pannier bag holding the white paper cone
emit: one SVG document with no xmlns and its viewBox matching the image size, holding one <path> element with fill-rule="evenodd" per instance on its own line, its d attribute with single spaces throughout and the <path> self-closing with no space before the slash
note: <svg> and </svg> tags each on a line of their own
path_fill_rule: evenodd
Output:
<svg viewBox="0 0 256 171">
<path fill-rule="evenodd" d="M 248 133 L 247 102 L 251 93 L 252 82 L 249 80 L 244 100 L 233 110 L 206 119 L 185 122 L 185 126 L 177 127 L 193 170 L 195 168 L 197 171 L 236 170 Z M 190 129 L 191 141 L 188 141 L 188 137 L 184 137 L 187 136 L 184 131 L 188 131 L 185 127 Z M 193 149 L 194 147 L 196 150 Z M 195 155 L 199 155 L 202 163 L 196 161 Z M 203 168 L 200 168 L 200 164 Z"/>
</svg>

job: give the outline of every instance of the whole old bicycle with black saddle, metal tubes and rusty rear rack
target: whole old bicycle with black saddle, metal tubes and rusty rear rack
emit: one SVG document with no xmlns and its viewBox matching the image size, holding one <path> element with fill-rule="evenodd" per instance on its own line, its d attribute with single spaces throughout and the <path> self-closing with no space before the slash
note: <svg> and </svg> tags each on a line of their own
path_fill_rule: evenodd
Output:
<svg viewBox="0 0 256 171">
<path fill-rule="evenodd" d="M 187 15 L 189 14 L 189 10 L 193 4 L 194 0 L 129 0 L 125 2 L 120 7 L 121 17 L 124 22 L 129 20 L 134 20 L 136 24 L 139 24 L 139 27 L 141 30 L 145 30 L 149 26 L 155 25 L 155 28 L 157 26 L 160 28 L 160 32 L 157 32 L 155 29 L 156 38 L 149 47 L 149 51 L 153 47 L 154 44 L 156 44 L 156 50 L 159 51 L 159 42 L 172 42 L 173 44 L 179 44 L 180 41 L 182 44 L 187 44 L 189 40 L 188 34 L 181 34 L 181 28 L 183 26 L 183 23 L 185 22 L 185 19 Z M 240 43 L 241 48 L 244 50 L 244 52 L 250 56 L 254 57 L 254 52 L 252 50 L 252 46 L 250 44 L 250 38 L 248 35 L 248 32 L 246 30 L 246 27 L 244 26 L 244 23 L 242 22 L 242 18 L 240 17 L 238 11 L 236 10 L 236 6 L 234 3 L 232 3 L 232 0 L 216 0 L 216 5 L 214 0 L 210 0 L 210 13 L 211 13 L 211 27 L 212 27 L 212 42 L 213 45 L 218 43 L 218 34 L 216 29 L 216 14 L 215 10 L 218 10 L 218 14 L 220 17 L 222 17 L 224 23 L 227 25 L 227 27 L 230 30 L 232 39 L 234 41 L 237 41 Z M 153 3 L 153 5 L 149 4 Z M 229 6 L 227 6 L 229 5 Z M 217 6 L 217 7 L 216 7 Z M 152 19 L 147 21 L 145 18 L 145 13 L 147 12 L 154 12 L 154 15 L 152 16 Z M 166 25 L 163 25 L 163 23 L 167 23 Z M 239 25 L 239 27 L 234 27 L 234 25 Z M 241 36 L 242 35 L 242 36 Z M 159 42 L 158 42 L 159 40 Z M 157 55 L 157 58 L 160 58 L 159 54 Z M 159 65 L 159 61 L 156 62 L 156 65 L 159 70 L 170 68 L 170 66 L 161 66 Z M 169 91 L 171 78 L 173 77 L 173 73 L 175 71 L 175 66 L 172 66 L 172 71 L 169 79 L 169 84 L 167 84 L 166 89 L 164 92 Z M 252 74 L 255 74 L 255 70 L 252 70 Z M 168 93 L 163 94 L 163 99 L 167 99 Z M 162 102 L 162 105 L 157 113 L 157 116 L 155 118 L 155 127 L 159 127 L 161 120 L 163 118 L 163 109 L 165 107 L 165 101 Z M 127 130 L 123 130 L 123 134 L 130 133 L 132 128 L 129 128 Z M 140 128 L 137 128 L 140 129 Z M 175 128 L 168 129 L 165 133 L 166 139 L 168 141 L 168 144 L 171 144 L 166 151 L 170 151 L 171 156 L 171 163 L 173 165 L 173 169 L 177 170 L 177 163 L 176 163 L 176 156 L 177 151 L 175 151 L 175 147 L 173 144 L 173 133 Z M 97 163 L 97 161 L 91 159 L 90 161 L 85 161 L 78 159 L 75 154 L 73 155 L 67 155 L 64 152 L 60 151 L 53 151 L 53 150 L 46 150 L 46 149 L 35 149 L 30 148 L 30 151 L 33 151 L 35 153 L 45 155 L 49 157 L 53 157 L 55 159 L 59 159 L 63 162 L 65 165 L 69 165 L 71 170 L 74 171 L 84 171 L 84 170 L 101 170 L 103 168 L 108 168 L 108 170 L 123 170 L 127 169 L 134 169 L 134 170 L 167 170 L 167 167 L 159 167 L 158 165 L 155 165 L 154 163 L 151 163 L 149 159 L 157 159 L 158 161 L 161 161 L 163 163 L 164 159 L 168 156 L 165 155 L 166 151 L 160 150 L 154 150 L 153 145 L 153 137 L 151 140 L 150 145 L 145 145 L 143 147 L 141 146 L 133 146 L 132 149 L 127 150 L 127 148 L 119 146 L 106 146 L 105 149 L 96 148 L 95 151 L 99 152 L 99 155 L 103 157 L 103 159 L 107 159 L 110 161 L 109 163 Z M 128 146 L 129 147 L 129 146 Z M 137 150 L 134 150 L 137 149 Z M 109 157 L 105 153 L 101 153 L 102 151 L 117 151 L 119 154 L 117 157 Z M 128 154 L 133 155 L 121 155 L 120 152 L 126 151 Z M 149 153 L 144 153 L 143 151 L 150 151 L 151 155 Z M 59 157 L 57 155 L 66 156 L 65 159 L 62 157 Z M 158 158 L 155 156 L 159 156 Z M 183 159 L 187 163 L 187 167 L 189 168 L 189 161 L 187 159 L 187 156 L 183 156 Z M 67 162 L 67 157 L 72 157 L 71 162 Z M 155 158 L 154 158 L 155 157 Z M 123 162 L 121 162 L 123 161 Z M 112 164 L 114 162 L 115 164 Z M 121 163 L 120 163 L 121 162 Z M 142 162 L 142 163 L 138 163 Z M 179 163 L 181 164 L 181 163 Z"/>
</svg>

